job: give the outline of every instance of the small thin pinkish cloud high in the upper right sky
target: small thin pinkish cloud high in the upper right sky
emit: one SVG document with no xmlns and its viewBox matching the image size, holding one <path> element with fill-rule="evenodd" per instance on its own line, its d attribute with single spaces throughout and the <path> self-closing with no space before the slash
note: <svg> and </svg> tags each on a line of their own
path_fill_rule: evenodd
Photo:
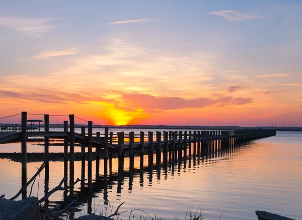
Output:
<svg viewBox="0 0 302 220">
<path fill-rule="evenodd" d="M 209 12 L 206 14 L 218 15 L 218 16 L 221 16 L 226 21 L 230 21 L 230 22 L 265 18 L 264 16 L 244 14 L 244 13 L 241 13 L 238 11 L 232 11 L 232 10 L 214 11 L 214 12 Z"/>
</svg>

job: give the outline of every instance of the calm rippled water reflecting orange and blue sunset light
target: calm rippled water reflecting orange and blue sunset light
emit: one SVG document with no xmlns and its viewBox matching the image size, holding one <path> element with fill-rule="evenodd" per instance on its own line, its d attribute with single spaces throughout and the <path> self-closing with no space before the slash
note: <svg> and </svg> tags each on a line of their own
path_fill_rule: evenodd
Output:
<svg viewBox="0 0 302 220">
<path fill-rule="evenodd" d="M 137 131 L 136 131 L 137 132 Z M 28 152 L 43 152 L 43 146 L 28 143 Z M 20 152 L 21 144 L 0 145 L 0 152 Z M 50 152 L 63 152 L 63 147 L 50 146 Z M 75 148 L 80 152 L 80 148 Z M 154 156 L 154 158 L 156 158 Z M 96 175 L 96 162 L 92 163 L 94 196 L 92 212 L 103 212 L 104 188 L 108 189 L 108 200 L 115 207 L 125 203 L 121 211 L 138 208 L 150 215 L 174 219 L 184 218 L 188 206 L 193 210 L 201 204 L 205 219 L 256 219 L 256 210 L 266 210 L 291 218 L 302 219 L 302 133 L 277 132 L 277 136 L 252 141 L 228 151 L 212 151 L 202 158 L 187 158 L 177 162 L 162 164 L 158 171 L 148 168 L 148 156 L 144 156 L 143 173 L 140 173 L 140 158 L 134 159 L 133 181 L 129 184 L 129 159 L 124 159 L 124 173 L 118 178 L 118 160 L 112 160 L 112 176 L 108 185 L 103 181 L 103 161 L 100 174 Z M 163 160 L 162 160 L 163 161 Z M 30 178 L 41 162 L 28 163 Z M 55 187 L 63 177 L 63 162 L 49 162 L 49 188 Z M 15 195 L 21 185 L 21 163 L 0 159 L 0 192 L 7 198 Z M 82 164 L 75 162 L 74 177 L 81 178 Z M 87 162 L 86 162 L 87 178 Z M 120 180 L 120 181 L 118 181 Z M 87 181 L 86 181 L 87 183 Z M 80 183 L 75 190 L 81 192 Z M 85 188 L 83 199 L 87 200 Z M 28 192 L 29 193 L 29 192 Z M 44 171 L 33 188 L 33 195 L 41 198 L 44 194 Z M 84 196 L 83 196 L 84 195 Z M 62 192 L 56 192 L 50 201 L 60 201 Z M 88 211 L 88 203 L 83 204 L 83 215 Z M 140 215 L 135 211 L 136 216 Z"/>
</svg>

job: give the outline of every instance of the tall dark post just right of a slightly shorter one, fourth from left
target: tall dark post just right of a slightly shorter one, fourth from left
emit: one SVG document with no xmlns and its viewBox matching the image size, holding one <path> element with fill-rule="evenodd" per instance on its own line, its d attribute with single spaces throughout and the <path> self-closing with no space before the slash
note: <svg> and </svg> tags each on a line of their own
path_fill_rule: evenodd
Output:
<svg viewBox="0 0 302 220">
<path fill-rule="evenodd" d="M 69 141 L 70 141 L 70 153 L 69 153 L 69 185 L 70 187 L 70 197 L 73 199 L 73 183 L 74 183 L 74 115 L 69 115 Z"/>
</svg>

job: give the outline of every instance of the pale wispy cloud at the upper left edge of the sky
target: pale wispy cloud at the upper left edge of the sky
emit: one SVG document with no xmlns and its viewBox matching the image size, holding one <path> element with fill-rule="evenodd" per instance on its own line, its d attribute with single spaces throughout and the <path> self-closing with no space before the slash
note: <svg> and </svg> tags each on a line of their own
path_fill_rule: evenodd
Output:
<svg viewBox="0 0 302 220">
<path fill-rule="evenodd" d="M 16 17 L 0 17 L 0 26 L 4 26 L 30 37 L 40 37 L 53 29 L 49 22 L 57 19 L 29 19 Z"/>
</svg>

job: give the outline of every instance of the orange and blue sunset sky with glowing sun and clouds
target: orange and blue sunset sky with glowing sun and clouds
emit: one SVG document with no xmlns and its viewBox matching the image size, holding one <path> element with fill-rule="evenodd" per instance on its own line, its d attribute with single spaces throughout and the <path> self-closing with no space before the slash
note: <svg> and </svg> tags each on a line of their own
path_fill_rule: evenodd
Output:
<svg viewBox="0 0 302 220">
<path fill-rule="evenodd" d="M 302 1 L 1 1 L 0 117 L 302 127 L 301 36 Z"/>
</svg>

